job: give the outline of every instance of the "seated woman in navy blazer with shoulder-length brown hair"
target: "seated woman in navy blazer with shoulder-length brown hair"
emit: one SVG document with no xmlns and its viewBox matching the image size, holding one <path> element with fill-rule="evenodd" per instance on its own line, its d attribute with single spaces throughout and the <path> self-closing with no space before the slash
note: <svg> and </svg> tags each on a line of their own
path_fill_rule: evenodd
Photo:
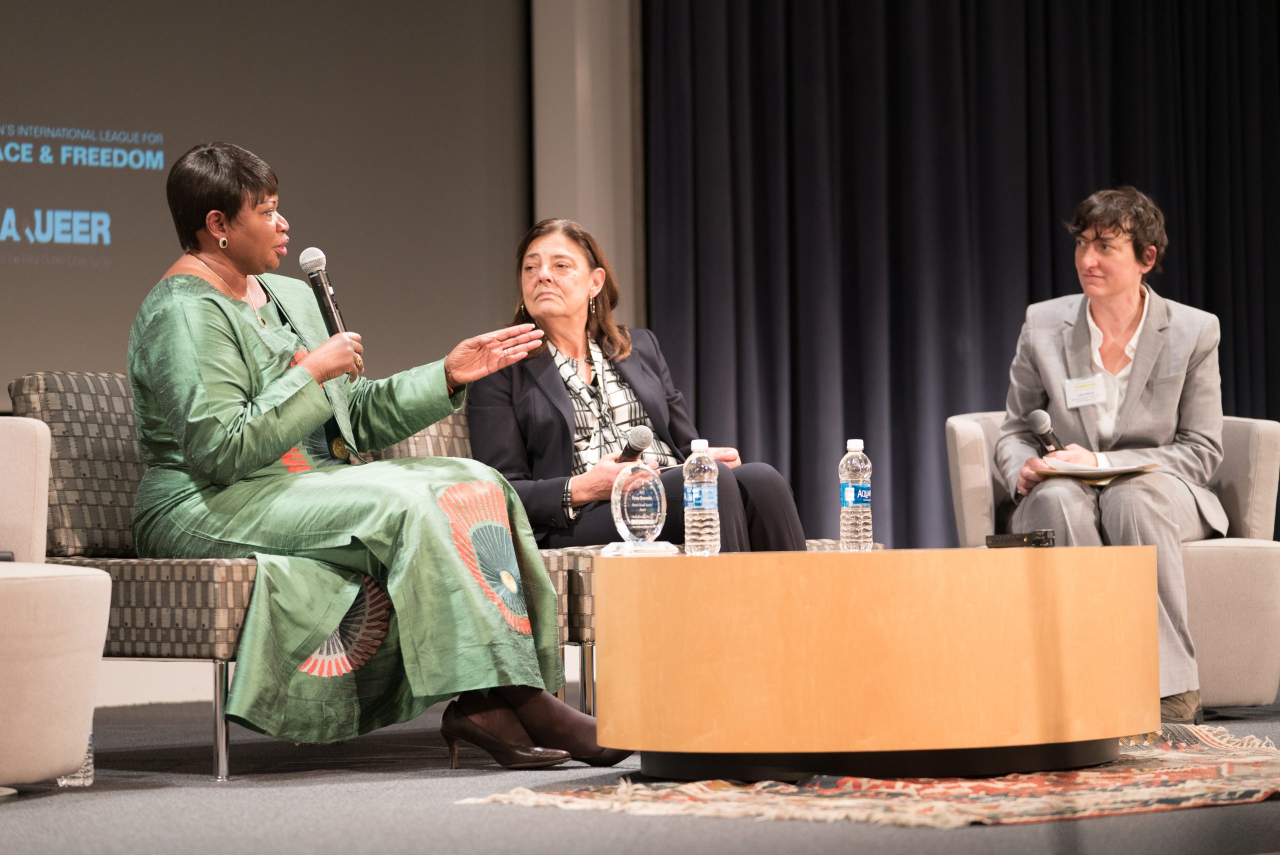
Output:
<svg viewBox="0 0 1280 855">
<path fill-rule="evenodd" d="M 616 451 L 590 465 L 575 461 L 591 443 L 584 439 L 589 429 L 580 422 L 582 406 L 575 406 L 570 384 L 594 389 L 605 407 L 634 396 L 628 412 L 654 433 L 657 451 L 646 457 L 681 463 L 698 431 L 654 334 L 613 323 L 618 285 L 594 237 L 572 220 L 543 220 L 521 241 L 516 259 L 517 323 L 536 324 L 550 346 L 471 385 L 472 454 L 511 481 L 543 548 L 620 540 L 609 491 L 625 465 Z M 581 385 L 570 376 L 575 369 Z M 602 384 L 611 372 L 613 394 L 607 396 Z M 804 549 L 795 499 L 782 476 L 767 463 L 744 465 L 737 449 L 710 452 L 719 465 L 722 552 Z M 576 462 L 586 468 L 573 475 Z M 662 481 L 668 511 L 659 538 L 684 543 L 681 468 L 663 471 Z"/>
</svg>

